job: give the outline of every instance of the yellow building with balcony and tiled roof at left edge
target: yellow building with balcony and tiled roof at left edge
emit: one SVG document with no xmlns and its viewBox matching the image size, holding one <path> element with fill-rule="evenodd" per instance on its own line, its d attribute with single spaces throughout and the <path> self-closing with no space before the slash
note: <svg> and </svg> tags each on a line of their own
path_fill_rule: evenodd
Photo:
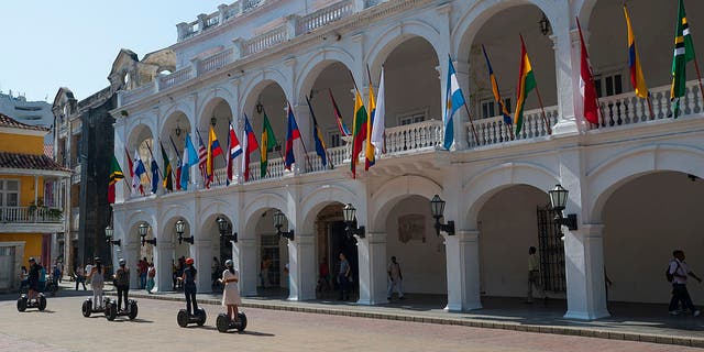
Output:
<svg viewBox="0 0 704 352">
<path fill-rule="evenodd" d="M 62 197 L 51 185 L 70 170 L 44 155 L 47 132 L 0 113 L 0 292 L 16 287 L 30 256 L 51 265 L 52 243 L 64 232 Z"/>
</svg>

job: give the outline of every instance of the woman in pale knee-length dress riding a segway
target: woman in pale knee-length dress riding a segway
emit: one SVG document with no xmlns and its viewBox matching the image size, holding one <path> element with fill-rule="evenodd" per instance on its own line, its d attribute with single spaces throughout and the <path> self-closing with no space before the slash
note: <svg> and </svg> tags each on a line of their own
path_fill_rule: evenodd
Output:
<svg viewBox="0 0 704 352">
<path fill-rule="evenodd" d="M 238 310 L 238 306 L 242 305 L 242 298 L 240 298 L 240 289 L 238 287 L 240 273 L 234 270 L 234 262 L 232 262 L 232 260 L 224 262 L 224 266 L 227 268 L 222 272 L 222 277 L 218 280 L 224 287 L 222 289 L 222 306 L 228 308 L 228 314 L 221 312 L 218 315 L 216 324 L 220 332 L 227 332 L 230 329 L 244 331 L 246 328 L 246 315 Z"/>
</svg>

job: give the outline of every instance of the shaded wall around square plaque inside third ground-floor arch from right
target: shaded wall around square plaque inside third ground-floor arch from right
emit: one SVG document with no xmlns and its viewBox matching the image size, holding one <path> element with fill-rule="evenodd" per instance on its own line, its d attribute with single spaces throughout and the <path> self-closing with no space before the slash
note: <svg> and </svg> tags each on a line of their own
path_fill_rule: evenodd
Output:
<svg viewBox="0 0 704 352">
<path fill-rule="evenodd" d="M 405 215 L 426 217 L 426 242 L 398 240 L 398 217 Z M 448 280 L 442 237 L 438 238 L 435 220 L 430 216 L 428 199 L 413 196 L 398 202 L 386 220 L 386 265 L 393 255 L 400 264 L 404 275 L 404 292 L 415 294 L 446 294 Z"/>
</svg>

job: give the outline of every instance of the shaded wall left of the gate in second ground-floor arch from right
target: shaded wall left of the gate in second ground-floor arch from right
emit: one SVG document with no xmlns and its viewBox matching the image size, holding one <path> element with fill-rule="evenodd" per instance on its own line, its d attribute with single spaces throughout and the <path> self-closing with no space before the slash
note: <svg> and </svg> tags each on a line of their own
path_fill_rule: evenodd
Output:
<svg viewBox="0 0 704 352">
<path fill-rule="evenodd" d="M 494 195 L 480 211 L 480 276 L 487 296 L 525 297 L 528 248 L 538 248 L 536 208 L 550 200 L 530 186 L 513 186 Z"/>
</svg>

